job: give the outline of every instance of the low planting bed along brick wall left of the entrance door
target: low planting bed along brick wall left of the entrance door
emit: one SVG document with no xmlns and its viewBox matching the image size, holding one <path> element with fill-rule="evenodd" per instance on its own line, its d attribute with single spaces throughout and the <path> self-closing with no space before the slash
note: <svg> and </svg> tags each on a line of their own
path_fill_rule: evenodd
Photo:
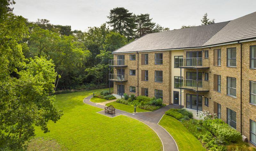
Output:
<svg viewBox="0 0 256 151">
<path fill-rule="evenodd" d="M 135 97 L 135 95 L 133 94 L 131 96 L 124 94 L 124 98 L 117 99 L 116 102 L 130 106 L 136 106 L 140 109 L 145 109 L 149 111 L 154 111 L 165 106 L 162 99 L 150 98 L 148 96 L 142 95 Z"/>
</svg>

